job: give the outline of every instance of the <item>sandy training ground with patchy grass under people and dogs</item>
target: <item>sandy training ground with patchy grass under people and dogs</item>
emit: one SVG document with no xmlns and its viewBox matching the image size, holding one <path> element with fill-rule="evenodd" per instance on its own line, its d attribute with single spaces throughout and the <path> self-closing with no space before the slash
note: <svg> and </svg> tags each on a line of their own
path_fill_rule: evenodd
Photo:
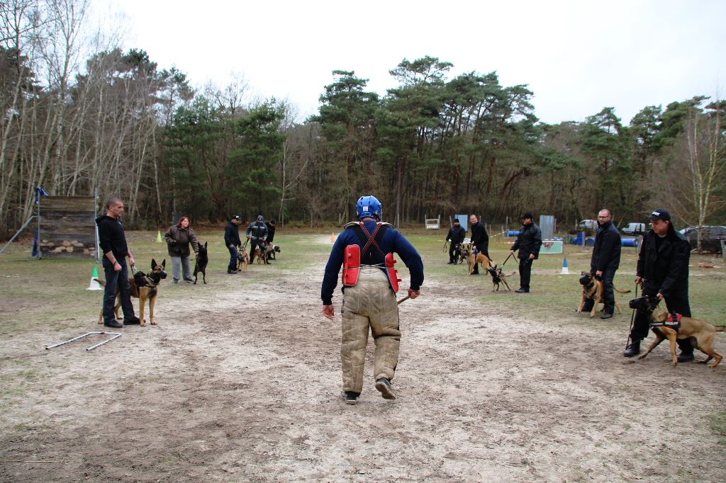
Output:
<svg viewBox="0 0 726 483">
<path fill-rule="evenodd" d="M 331 231 L 279 229 L 277 261 L 237 275 L 221 228 L 201 231 L 211 263 L 196 286 L 171 285 L 156 230 L 130 232 L 139 268 L 167 260 L 158 325 L 91 351 L 101 337 L 44 347 L 100 330 L 93 262 L 13 245 L 0 255 L 0 481 L 726 481 L 726 360 L 673 367 L 667 344 L 622 357 L 634 294 L 616 294 L 608 321 L 574 313 L 589 248 L 566 247 L 571 275 L 542 255 L 530 294 L 492 293 L 486 274 L 446 265 L 446 231 L 404 230 L 426 280 L 399 305 L 399 398 L 373 387 L 371 338 L 362 402 L 345 405 L 339 290 L 335 321 L 320 315 Z M 494 260 L 508 247 L 492 241 Z M 691 257 L 693 315 L 714 324 L 724 265 Z M 633 278 L 624 248 L 616 286 Z M 714 348 L 726 354 L 726 334 Z"/>
</svg>

